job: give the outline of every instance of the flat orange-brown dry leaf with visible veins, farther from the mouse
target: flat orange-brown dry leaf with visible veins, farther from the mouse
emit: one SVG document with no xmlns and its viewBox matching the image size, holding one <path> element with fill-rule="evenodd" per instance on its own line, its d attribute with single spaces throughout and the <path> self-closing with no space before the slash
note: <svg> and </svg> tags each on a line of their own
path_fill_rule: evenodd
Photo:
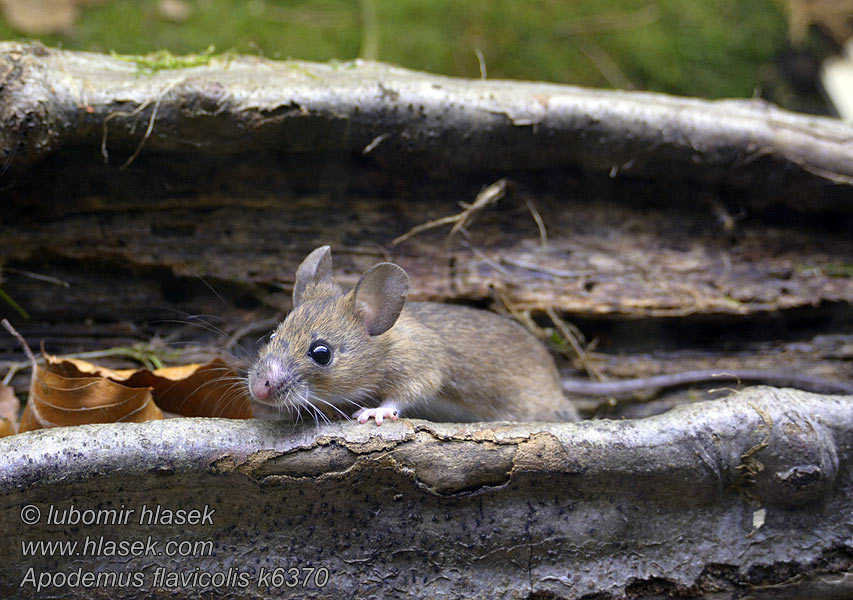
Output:
<svg viewBox="0 0 853 600">
<path fill-rule="evenodd" d="M 150 388 L 133 388 L 99 376 L 67 376 L 48 364 L 36 371 L 20 430 L 162 418 Z"/>
</svg>

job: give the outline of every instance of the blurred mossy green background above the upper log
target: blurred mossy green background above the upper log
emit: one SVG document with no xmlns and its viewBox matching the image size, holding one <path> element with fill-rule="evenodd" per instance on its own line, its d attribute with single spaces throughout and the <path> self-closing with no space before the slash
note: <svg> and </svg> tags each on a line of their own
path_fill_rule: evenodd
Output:
<svg viewBox="0 0 853 600">
<path fill-rule="evenodd" d="M 122 54 L 376 58 L 434 73 L 648 89 L 706 98 L 760 95 L 824 112 L 794 73 L 782 0 L 0 0 L 3 39 Z M 53 6 L 37 33 L 9 12 Z M 68 6 L 71 5 L 69 9 Z M 58 8 L 59 7 L 59 8 Z M 63 8 L 64 7 L 64 8 Z M 35 29 L 34 29 L 35 28 Z M 814 61 L 812 61 L 814 62 Z M 800 61 L 802 63 L 802 61 Z M 808 63 L 801 71 L 813 69 Z M 798 66 L 799 65 L 799 66 Z"/>
</svg>

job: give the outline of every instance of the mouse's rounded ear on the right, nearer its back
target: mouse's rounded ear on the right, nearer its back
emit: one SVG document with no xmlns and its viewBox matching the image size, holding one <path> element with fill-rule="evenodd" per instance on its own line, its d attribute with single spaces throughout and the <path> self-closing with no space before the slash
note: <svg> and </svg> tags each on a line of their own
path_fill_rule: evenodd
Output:
<svg viewBox="0 0 853 600">
<path fill-rule="evenodd" d="M 394 263 L 379 263 L 361 276 L 353 290 L 353 299 L 369 335 L 391 329 L 403 310 L 408 293 L 409 276 Z"/>
</svg>

